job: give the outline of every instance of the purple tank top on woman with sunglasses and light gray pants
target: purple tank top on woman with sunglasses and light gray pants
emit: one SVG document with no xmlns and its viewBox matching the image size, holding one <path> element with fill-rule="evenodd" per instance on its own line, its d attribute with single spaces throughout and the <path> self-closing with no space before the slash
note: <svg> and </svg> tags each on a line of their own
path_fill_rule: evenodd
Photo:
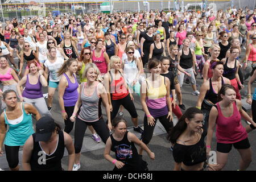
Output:
<svg viewBox="0 0 256 182">
<path fill-rule="evenodd" d="M 26 87 L 22 92 L 22 97 L 36 99 L 43 97 L 42 84 L 40 82 L 40 76 L 36 84 L 30 84 L 29 76 L 27 75 Z"/>
</svg>

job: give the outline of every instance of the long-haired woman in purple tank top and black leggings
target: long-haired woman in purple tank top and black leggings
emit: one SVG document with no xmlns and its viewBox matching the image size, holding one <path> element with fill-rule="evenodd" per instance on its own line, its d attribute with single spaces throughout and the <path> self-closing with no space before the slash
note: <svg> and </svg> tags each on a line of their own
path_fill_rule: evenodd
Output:
<svg viewBox="0 0 256 182">
<path fill-rule="evenodd" d="M 79 96 L 79 83 L 76 80 L 77 60 L 68 59 L 59 69 L 58 76 L 59 83 L 59 104 L 61 115 L 65 122 L 66 133 L 70 133 L 73 129 L 74 123 L 70 121 L 70 117 L 75 109 L 76 101 Z"/>
</svg>

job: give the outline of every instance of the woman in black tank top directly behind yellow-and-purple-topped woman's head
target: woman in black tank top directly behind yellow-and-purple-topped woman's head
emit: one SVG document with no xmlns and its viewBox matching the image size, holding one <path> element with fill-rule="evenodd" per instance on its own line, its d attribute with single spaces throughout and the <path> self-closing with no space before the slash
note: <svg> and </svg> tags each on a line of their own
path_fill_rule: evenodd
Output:
<svg viewBox="0 0 256 182">
<path fill-rule="evenodd" d="M 165 51 L 165 48 L 164 48 L 165 47 L 164 43 L 160 42 L 161 35 L 160 34 L 156 34 L 154 36 L 153 40 L 155 42 L 152 43 L 151 46 L 150 46 L 150 55 L 148 56 L 148 59 L 156 58 L 156 59 L 160 60 L 160 57 L 162 55 L 166 56 L 166 51 Z"/>
</svg>

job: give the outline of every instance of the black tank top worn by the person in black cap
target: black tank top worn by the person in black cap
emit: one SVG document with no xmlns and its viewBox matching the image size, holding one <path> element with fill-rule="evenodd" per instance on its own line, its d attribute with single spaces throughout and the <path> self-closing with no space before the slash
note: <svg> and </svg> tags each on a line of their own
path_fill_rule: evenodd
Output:
<svg viewBox="0 0 256 182">
<path fill-rule="evenodd" d="M 63 158 L 65 151 L 65 140 L 63 131 L 58 133 L 58 142 L 55 151 L 52 154 L 46 154 L 40 142 L 35 142 L 35 134 L 33 137 L 33 151 L 31 154 L 30 165 L 32 171 L 62 171 L 61 159 Z M 40 154 L 40 155 L 39 155 Z M 46 158 L 42 159 L 45 155 Z"/>
</svg>

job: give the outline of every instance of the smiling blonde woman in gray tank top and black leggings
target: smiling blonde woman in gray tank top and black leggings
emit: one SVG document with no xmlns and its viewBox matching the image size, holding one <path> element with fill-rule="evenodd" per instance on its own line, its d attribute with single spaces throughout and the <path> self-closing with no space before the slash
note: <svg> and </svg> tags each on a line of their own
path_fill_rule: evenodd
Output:
<svg viewBox="0 0 256 182">
<path fill-rule="evenodd" d="M 110 119 L 110 107 L 108 102 L 108 95 L 105 87 L 97 81 L 97 77 L 100 75 L 100 70 L 94 63 L 88 63 L 86 65 L 85 71 L 82 77 L 87 78 L 87 82 L 82 82 L 80 85 L 79 99 L 76 102 L 75 109 L 73 111 L 70 120 L 74 122 L 75 125 L 75 153 L 76 160 L 73 166 L 73 171 L 80 169 L 80 151 L 82 148 L 82 141 L 84 139 L 84 134 L 87 126 L 93 126 L 97 134 L 100 135 L 102 141 L 106 143 L 109 138 L 109 131 L 112 129 L 111 119 Z M 104 122 L 101 113 L 101 100 L 106 108 L 106 114 L 108 117 L 108 126 Z M 81 106 L 82 105 L 82 106 Z M 77 115 L 77 111 L 81 106 L 80 113 Z M 76 119 L 75 119 L 76 118 Z"/>
</svg>

